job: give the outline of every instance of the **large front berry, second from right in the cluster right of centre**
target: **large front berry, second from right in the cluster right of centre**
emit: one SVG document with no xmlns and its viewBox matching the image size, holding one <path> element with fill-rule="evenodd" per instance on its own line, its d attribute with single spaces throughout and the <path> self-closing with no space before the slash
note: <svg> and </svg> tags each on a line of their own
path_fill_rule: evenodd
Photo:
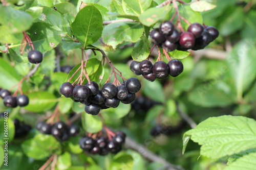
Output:
<svg viewBox="0 0 256 170">
<path fill-rule="evenodd" d="M 158 61 L 153 65 L 153 73 L 157 78 L 163 79 L 168 76 L 169 68 L 168 65 L 163 61 Z"/>
</svg>

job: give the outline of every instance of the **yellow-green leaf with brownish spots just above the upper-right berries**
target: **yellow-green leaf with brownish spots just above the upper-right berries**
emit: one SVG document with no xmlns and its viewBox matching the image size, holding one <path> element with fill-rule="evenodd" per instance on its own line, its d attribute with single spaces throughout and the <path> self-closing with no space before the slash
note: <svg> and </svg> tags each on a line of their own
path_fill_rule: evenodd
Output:
<svg viewBox="0 0 256 170">
<path fill-rule="evenodd" d="M 172 7 L 166 5 L 162 8 L 149 8 L 145 12 L 139 15 L 140 22 L 147 27 L 154 25 L 157 21 L 166 16 L 168 12 L 172 10 Z"/>
</svg>

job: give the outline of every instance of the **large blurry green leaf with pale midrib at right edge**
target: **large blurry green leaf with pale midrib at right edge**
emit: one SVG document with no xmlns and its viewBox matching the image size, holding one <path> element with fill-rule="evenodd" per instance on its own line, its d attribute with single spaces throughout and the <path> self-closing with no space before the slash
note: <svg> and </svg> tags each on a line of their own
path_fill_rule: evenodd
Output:
<svg viewBox="0 0 256 170">
<path fill-rule="evenodd" d="M 243 98 L 243 92 L 251 85 L 256 76 L 256 47 L 249 40 L 243 40 L 233 47 L 227 58 L 228 71 L 237 89 L 237 98 Z M 246 76 L 245 76 L 246 75 Z"/>
</svg>

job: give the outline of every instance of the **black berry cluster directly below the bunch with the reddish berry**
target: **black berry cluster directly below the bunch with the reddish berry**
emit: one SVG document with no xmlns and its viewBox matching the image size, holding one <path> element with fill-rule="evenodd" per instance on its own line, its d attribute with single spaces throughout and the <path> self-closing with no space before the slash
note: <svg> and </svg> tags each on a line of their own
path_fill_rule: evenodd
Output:
<svg viewBox="0 0 256 170">
<path fill-rule="evenodd" d="M 148 81 L 155 81 L 156 78 L 163 79 L 168 75 L 176 77 L 183 71 L 183 64 L 180 60 L 170 60 L 167 64 L 163 61 L 157 61 L 154 65 L 150 60 L 141 62 L 133 60 L 130 69 L 135 75 L 143 75 Z"/>
</svg>

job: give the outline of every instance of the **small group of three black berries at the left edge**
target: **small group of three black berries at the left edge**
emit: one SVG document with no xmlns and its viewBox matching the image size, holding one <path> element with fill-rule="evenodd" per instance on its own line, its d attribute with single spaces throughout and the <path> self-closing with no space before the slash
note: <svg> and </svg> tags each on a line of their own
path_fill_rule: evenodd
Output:
<svg viewBox="0 0 256 170">
<path fill-rule="evenodd" d="M 29 104 L 29 98 L 25 94 L 18 95 L 14 97 L 11 92 L 7 89 L 2 89 L 0 91 L 0 97 L 4 99 L 4 105 L 6 107 L 17 107 L 17 106 L 27 106 Z"/>
</svg>

